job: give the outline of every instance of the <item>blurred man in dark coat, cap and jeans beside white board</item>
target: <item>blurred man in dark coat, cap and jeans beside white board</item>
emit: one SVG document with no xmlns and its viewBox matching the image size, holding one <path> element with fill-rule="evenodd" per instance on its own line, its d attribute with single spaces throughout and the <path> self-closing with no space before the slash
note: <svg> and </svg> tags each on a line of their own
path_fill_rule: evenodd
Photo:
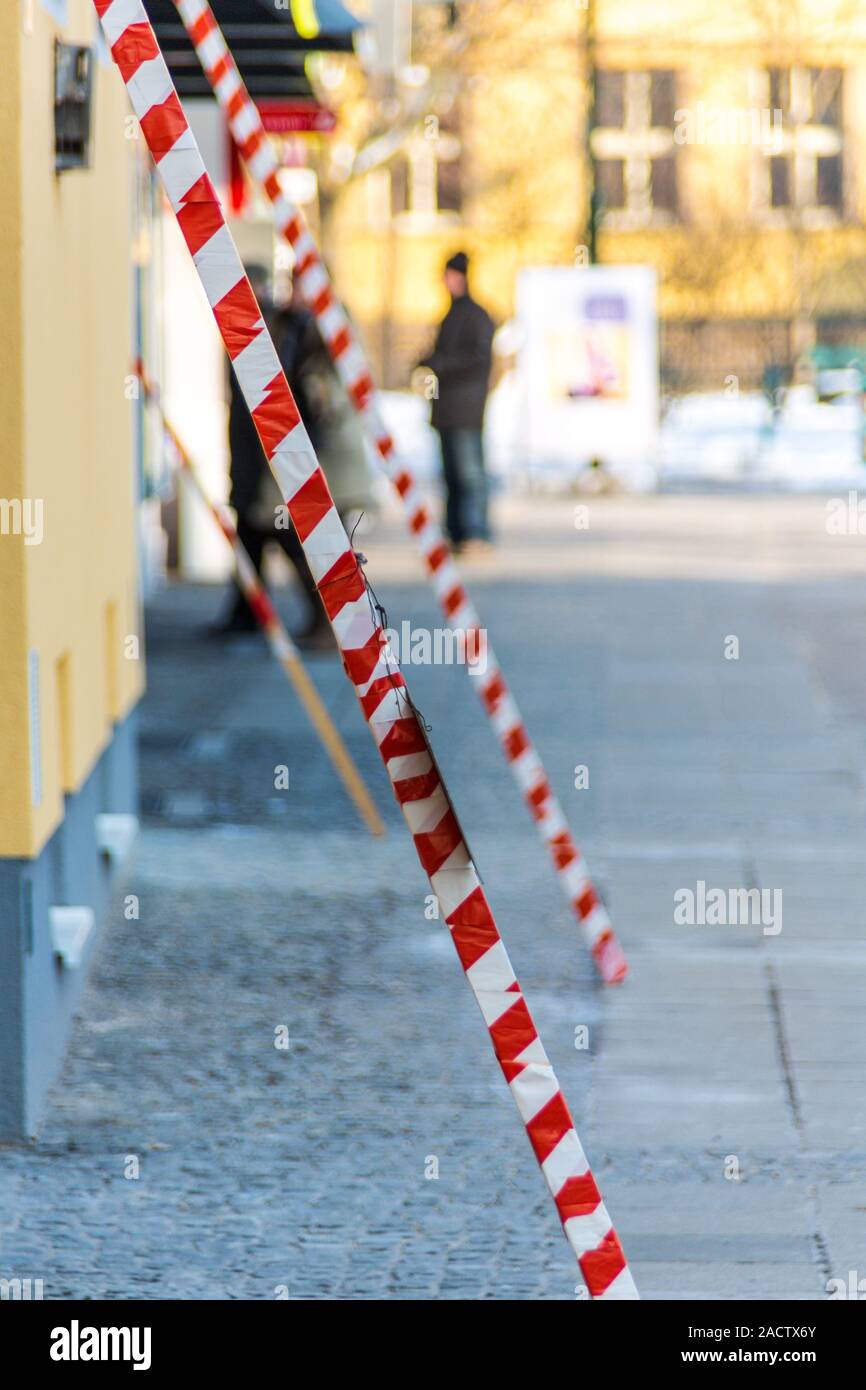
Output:
<svg viewBox="0 0 866 1390">
<path fill-rule="evenodd" d="M 428 367 L 438 382 L 431 424 L 442 448 L 445 528 L 456 550 L 484 550 L 491 543 L 482 428 L 493 321 L 468 292 L 464 252 L 446 261 L 445 285 L 450 309 L 432 352 L 418 366 Z"/>
</svg>

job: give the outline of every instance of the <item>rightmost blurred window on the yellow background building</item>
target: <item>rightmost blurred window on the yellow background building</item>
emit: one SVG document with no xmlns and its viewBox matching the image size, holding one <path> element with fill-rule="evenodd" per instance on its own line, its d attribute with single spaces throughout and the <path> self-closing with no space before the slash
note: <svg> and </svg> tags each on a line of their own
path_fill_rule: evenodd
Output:
<svg viewBox="0 0 866 1390">
<path fill-rule="evenodd" d="M 769 68 L 760 75 L 773 115 L 771 153 L 758 160 L 758 207 L 826 224 L 845 211 L 842 68 Z M 781 121 L 774 113 L 781 111 Z"/>
</svg>

